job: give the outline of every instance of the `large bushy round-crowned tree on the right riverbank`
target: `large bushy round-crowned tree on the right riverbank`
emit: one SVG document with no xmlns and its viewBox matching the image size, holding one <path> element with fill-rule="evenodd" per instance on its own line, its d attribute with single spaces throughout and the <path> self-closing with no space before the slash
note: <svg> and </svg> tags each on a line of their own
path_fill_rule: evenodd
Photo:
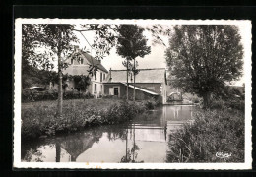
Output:
<svg viewBox="0 0 256 177">
<path fill-rule="evenodd" d="M 202 96 L 208 106 L 212 93 L 241 76 L 240 40 L 235 26 L 175 26 L 165 52 L 173 87 Z"/>
</svg>

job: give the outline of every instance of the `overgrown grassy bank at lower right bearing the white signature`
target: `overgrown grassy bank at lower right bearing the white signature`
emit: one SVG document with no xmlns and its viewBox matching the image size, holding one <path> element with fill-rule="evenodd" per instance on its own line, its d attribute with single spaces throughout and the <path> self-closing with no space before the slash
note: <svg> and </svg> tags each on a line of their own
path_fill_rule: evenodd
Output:
<svg viewBox="0 0 256 177">
<path fill-rule="evenodd" d="M 168 162 L 243 162 L 244 112 L 208 109 L 194 113 L 194 123 L 185 125 L 169 143 Z M 228 153 L 226 158 L 216 153 Z"/>
</svg>

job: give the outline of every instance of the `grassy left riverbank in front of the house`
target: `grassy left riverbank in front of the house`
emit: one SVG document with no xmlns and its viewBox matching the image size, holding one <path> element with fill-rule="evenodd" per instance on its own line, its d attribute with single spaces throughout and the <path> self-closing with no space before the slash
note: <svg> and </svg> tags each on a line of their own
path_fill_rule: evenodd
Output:
<svg viewBox="0 0 256 177">
<path fill-rule="evenodd" d="M 86 127 L 119 124 L 152 109 L 154 101 L 119 99 L 73 99 L 63 101 L 63 117 L 57 116 L 57 101 L 22 103 L 22 138 L 34 139 L 83 130 Z"/>
</svg>

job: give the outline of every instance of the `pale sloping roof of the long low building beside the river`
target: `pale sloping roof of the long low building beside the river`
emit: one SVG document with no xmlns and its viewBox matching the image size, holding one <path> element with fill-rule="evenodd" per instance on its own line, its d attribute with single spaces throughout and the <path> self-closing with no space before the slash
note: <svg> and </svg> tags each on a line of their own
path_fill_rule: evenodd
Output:
<svg viewBox="0 0 256 177">
<path fill-rule="evenodd" d="M 104 83 L 126 83 L 126 75 L 126 70 L 110 70 Z M 139 69 L 135 83 L 163 83 L 165 77 L 165 68 Z M 129 83 L 133 83 L 131 77 Z"/>
</svg>

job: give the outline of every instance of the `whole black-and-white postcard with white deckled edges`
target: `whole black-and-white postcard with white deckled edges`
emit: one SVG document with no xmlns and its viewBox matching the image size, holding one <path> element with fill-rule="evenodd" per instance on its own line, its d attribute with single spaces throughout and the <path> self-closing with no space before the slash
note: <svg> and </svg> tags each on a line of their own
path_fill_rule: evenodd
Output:
<svg viewBox="0 0 256 177">
<path fill-rule="evenodd" d="M 14 168 L 252 168 L 249 20 L 14 31 Z"/>
</svg>

